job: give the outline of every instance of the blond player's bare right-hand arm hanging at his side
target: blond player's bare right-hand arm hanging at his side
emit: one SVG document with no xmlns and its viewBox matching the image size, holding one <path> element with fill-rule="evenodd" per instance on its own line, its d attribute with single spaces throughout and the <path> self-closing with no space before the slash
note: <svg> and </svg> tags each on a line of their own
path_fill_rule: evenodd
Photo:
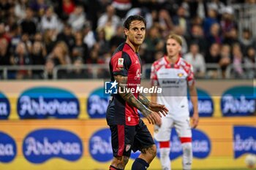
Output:
<svg viewBox="0 0 256 170">
<path fill-rule="evenodd" d="M 196 128 L 199 122 L 199 113 L 198 113 L 198 101 L 197 101 L 197 89 L 195 88 L 195 83 L 189 86 L 189 95 L 193 105 L 193 116 L 192 116 L 192 128 Z"/>
</svg>

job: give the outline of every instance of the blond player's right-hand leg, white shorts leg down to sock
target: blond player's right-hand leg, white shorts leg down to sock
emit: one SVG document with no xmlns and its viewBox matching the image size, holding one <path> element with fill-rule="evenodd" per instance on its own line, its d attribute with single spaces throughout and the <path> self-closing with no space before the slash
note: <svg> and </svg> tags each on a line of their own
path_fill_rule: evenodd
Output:
<svg viewBox="0 0 256 170">
<path fill-rule="evenodd" d="M 183 150 L 182 164 L 184 170 L 190 170 L 192 166 L 192 131 L 190 128 L 189 117 L 178 117 L 174 126 L 181 140 Z"/>
</svg>

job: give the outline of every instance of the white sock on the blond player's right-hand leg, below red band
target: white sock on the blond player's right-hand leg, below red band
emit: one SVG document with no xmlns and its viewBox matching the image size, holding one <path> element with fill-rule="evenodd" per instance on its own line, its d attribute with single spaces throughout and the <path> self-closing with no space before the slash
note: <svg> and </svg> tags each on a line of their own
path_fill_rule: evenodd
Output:
<svg viewBox="0 0 256 170">
<path fill-rule="evenodd" d="M 190 170 L 192 164 L 192 143 L 186 142 L 181 144 L 183 155 L 182 155 L 182 165 L 184 170 Z"/>
</svg>

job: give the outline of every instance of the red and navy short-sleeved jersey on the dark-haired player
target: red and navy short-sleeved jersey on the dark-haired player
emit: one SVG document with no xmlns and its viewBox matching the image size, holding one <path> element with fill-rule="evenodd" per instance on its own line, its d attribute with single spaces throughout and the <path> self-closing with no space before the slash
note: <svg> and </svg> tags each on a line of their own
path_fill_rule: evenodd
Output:
<svg viewBox="0 0 256 170">
<path fill-rule="evenodd" d="M 127 43 L 119 45 L 110 59 L 110 76 L 127 77 L 127 88 L 137 89 L 142 73 L 141 60 L 137 53 Z M 133 93 L 138 98 L 138 93 Z M 130 106 L 119 94 L 113 94 L 107 111 L 108 125 L 138 125 L 139 114 L 136 107 Z"/>
</svg>

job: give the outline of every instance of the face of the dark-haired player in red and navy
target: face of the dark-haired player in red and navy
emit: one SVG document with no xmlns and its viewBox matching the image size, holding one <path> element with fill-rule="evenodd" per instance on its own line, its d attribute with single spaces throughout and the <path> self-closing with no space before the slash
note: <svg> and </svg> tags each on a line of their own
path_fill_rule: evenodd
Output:
<svg viewBox="0 0 256 170">
<path fill-rule="evenodd" d="M 127 36 L 127 40 L 131 42 L 132 45 L 139 46 L 145 39 L 145 24 L 141 20 L 133 20 L 129 25 L 129 30 L 124 29 L 124 34 Z"/>
</svg>

